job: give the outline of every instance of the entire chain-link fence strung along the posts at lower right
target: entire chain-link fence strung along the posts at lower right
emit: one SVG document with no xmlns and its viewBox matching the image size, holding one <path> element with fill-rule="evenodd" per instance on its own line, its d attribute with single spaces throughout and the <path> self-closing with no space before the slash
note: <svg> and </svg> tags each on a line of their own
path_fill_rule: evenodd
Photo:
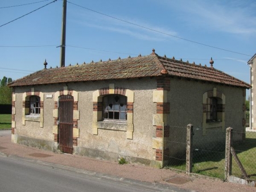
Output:
<svg viewBox="0 0 256 192">
<path fill-rule="evenodd" d="M 226 172 L 226 130 L 221 127 L 209 128 L 206 131 L 200 126 L 192 126 L 191 149 L 188 149 L 186 127 L 171 127 L 170 137 L 164 140 L 164 162 L 168 167 L 186 170 L 188 173 L 198 173 L 225 180 Z M 233 131 L 231 147 L 241 162 L 246 179 L 256 181 L 256 132 Z M 192 154 L 192 169 L 186 169 L 188 164 L 188 150 Z M 187 161 L 186 161 L 187 158 Z M 241 165 L 233 156 L 231 162 L 232 176 L 245 178 L 241 172 Z"/>
</svg>

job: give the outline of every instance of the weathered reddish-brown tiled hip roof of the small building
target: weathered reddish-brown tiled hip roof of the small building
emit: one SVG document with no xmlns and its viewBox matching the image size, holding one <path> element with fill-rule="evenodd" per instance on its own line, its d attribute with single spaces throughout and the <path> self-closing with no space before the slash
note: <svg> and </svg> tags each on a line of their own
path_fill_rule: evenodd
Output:
<svg viewBox="0 0 256 192">
<path fill-rule="evenodd" d="M 42 69 L 11 82 L 9 86 L 46 85 L 62 82 L 100 81 L 163 75 L 250 88 L 249 84 L 213 67 L 160 57 L 154 50 L 148 56 L 140 55 L 127 59 Z"/>
</svg>

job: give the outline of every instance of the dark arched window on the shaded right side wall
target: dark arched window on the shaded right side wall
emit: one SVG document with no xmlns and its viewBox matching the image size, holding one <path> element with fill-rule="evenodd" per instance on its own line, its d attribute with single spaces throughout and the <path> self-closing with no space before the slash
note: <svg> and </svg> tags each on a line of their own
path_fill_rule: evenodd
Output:
<svg viewBox="0 0 256 192">
<path fill-rule="evenodd" d="M 207 98 L 207 121 L 217 121 L 217 98 Z"/>
</svg>

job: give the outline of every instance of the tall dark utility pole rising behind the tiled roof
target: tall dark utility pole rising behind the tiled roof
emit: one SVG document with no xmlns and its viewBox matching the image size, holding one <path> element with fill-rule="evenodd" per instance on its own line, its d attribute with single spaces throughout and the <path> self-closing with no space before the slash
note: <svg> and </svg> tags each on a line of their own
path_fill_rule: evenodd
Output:
<svg viewBox="0 0 256 192">
<path fill-rule="evenodd" d="M 60 67 L 65 66 L 67 0 L 63 0 L 62 35 L 60 45 Z"/>
</svg>

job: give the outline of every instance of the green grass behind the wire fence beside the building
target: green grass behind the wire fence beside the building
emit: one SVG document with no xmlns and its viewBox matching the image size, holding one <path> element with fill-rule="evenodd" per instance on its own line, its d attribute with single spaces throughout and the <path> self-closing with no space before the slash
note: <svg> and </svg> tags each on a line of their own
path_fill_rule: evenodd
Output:
<svg viewBox="0 0 256 192">
<path fill-rule="evenodd" d="M 224 146 L 225 147 L 225 146 Z M 238 158 L 243 168 L 251 180 L 256 181 L 256 132 L 246 132 L 246 140 L 241 143 L 233 144 Z M 185 170 L 185 163 L 172 164 L 168 166 L 174 169 Z M 167 167 L 167 168 L 168 168 Z M 222 151 L 193 151 L 193 173 L 205 176 L 225 178 L 225 148 Z M 242 177 L 242 173 L 233 158 L 232 175 Z"/>
</svg>

